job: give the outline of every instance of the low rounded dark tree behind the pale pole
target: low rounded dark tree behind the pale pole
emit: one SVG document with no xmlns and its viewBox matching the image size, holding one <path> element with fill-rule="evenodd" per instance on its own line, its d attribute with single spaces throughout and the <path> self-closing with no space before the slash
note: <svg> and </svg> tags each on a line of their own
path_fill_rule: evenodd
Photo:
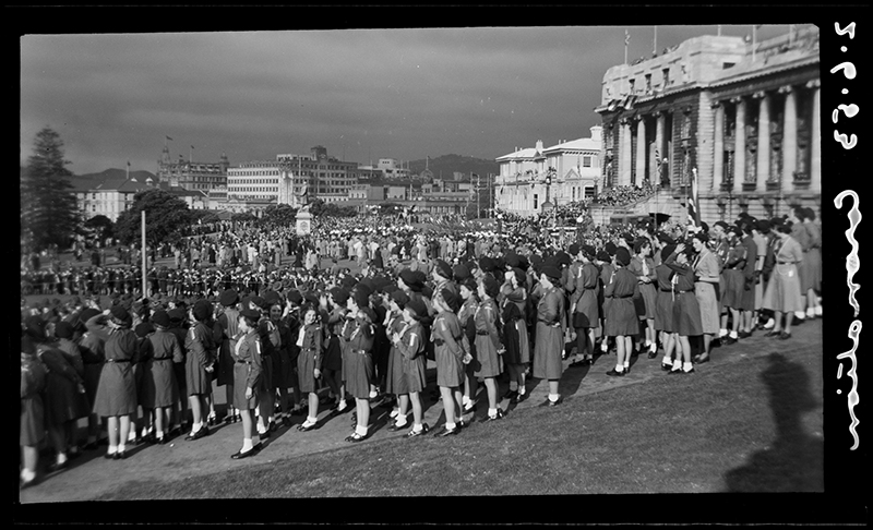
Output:
<svg viewBox="0 0 873 530">
<path fill-rule="evenodd" d="M 164 190 L 137 192 L 133 195 L 131 207 L 122 212 L 116 220 L 116 237 L 123 244 L 139 240 L 143 210 L 145 210 L 145 237 L 150 245 L 178 239 L 174 234 L 191 226 L 194 220 L 188 204 L 171 193 Z"/>
</svg>

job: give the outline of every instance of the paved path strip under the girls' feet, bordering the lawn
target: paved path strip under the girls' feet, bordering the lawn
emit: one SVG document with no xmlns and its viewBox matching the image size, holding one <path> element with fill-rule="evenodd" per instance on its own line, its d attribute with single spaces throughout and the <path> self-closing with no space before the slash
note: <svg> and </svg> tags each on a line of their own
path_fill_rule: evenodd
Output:
<svg viewBox="0 0 873 530">
<path fill-rule="evenodd" d="M 788 340 L 778 340 L 764 337 L 763 332 L 755 332 L 753 337 L 743 339 L 736 345 L 713 349 L 711 361 L 695 366 L 695 371 L 706 373 L 718 371 L 719 366 L 727 363 L 742 362 L 743 359 L 765 354 L 764 350 L 773 351 L 778 348 L 790 352 L 798 348 L 821 348 L 823 345 L 822 321 L 814 320 L 796 326 L 792 337 Z M 598 358 L 591 366 L 569 368 L 570 361 L 564 361 L 564 372 L 560 383 L 560 393 L 566 402 L 563 407 L 578 407 L 586 395 L 599 392 L 609 392 L 629 385 L 643 384 L 654 377 L 667 376 L 661 371 L 662 352 L 658 357 L 648 359 L 645 353 L 633 359 L 631 373 L 624 377 L 610 377 L 606 375 L 614 366 L 611 354 Z M 696 374 L 690 375 L 694 376 Z M 444 422 L 442 403 L 432 400 L 429 394 L 435 388 L 435 365 L 428 364 L 428 388 L 421 396 L 424 407 L 424 422 L 433 430 Z M 512 405 L 503 399 L 500 407 L 512 417 L 514 413 L 536 408 L 547 399 L 548 384 L 545 381 L 529 380 L 527 384 L 529 398 L 518 405 Z M 499 395 L 506 390 L 505 380 L 501 381 Z M 214 395 L 219 418 L 224 412 L 224 388 L 218 388 Z M 230 455 L 236 453 L 242 443 L 241 423 L 231 423 L 211 429 L 211 434 L 199 441 L 186 442 L 182 436 L 177 436 L 166 445 L 141 444 L 128 448 L 125 460 L 107 460 L 103 458 L 105 447 L 95 451 L 85 453 L 71 461 L 71 466 L 62 471 L 51 474 L 40 473 L 38 483 L 20 492 L 23 504 L 99 501 L 106 493 L 112 492 L 125 483 L 133 481 L 168 481 L 182 478 L 220 473 L 251 466 L 253 463 L 268 463 L 273 461 L 296 458 L 302 455 L 326 450 L 347 449 L 355 450 L 355 446 L 362 444 L 393 443 L 403 438 L 406 430 L 390 432 L 390 408 L 374 407 L 370 417 L 370 436 L 359 444 L 349 444 L 345 437 L 351 434 L 351 411 L 354 403 L 340 415 L 333 415 L 327 410 L 319 413 L 319 427 L 310 432 L 299 432 L 297 425 L 304 421 L 303 415 L 292 417 L 290 426 L 280 426 L 270 438 L 263 441 L 263 449 L 255 456 L 244 460 L 232 460 Z M 375 405 L 375 403 L 373 403 Z M 478 422 L 487 414 L 488 401 L 483 385 L 479 385 L 479 405 L 474 413 L 465 414 L 465 420 Z M 409 414 L 411 421 L 411 412 Z M 411 426 L 411 424 L 410 424 Z M 462 434 L 463 435 L 463 434 Z M 50 457 L 40 460 L 40 468 Z"/>
</svg>

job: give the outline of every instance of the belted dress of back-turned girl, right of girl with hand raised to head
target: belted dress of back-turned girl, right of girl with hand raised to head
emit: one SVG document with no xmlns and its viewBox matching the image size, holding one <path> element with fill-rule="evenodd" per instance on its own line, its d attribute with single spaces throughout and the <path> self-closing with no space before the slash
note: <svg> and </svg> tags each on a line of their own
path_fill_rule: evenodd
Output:
<svg viewBox="0 0 873 530">
<path fill-rule="evenodd" d="M 143 371 L 140 405 L 144 409 L 172 407 L 179 401 L 179 383 L 174 362 L 182 362 L 182 349 L 176 335 L 156 329 L 145 338 L 143 354 L 147 358 Z"/>
</svg>

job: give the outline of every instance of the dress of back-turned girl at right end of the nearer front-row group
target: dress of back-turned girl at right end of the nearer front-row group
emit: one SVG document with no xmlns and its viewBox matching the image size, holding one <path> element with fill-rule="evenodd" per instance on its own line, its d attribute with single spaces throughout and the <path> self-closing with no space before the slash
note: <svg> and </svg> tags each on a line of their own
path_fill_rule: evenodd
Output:
<svg viewBox="0 0 873 530">
<path fill-rule="evenodd" d="M 634 280 L 636 281 L 636 280 Z M 537 302 L 537 332 L 534 346 L 534 377 L 561 378 L 561 354 L 564 351 L 564 294 L 551 287 Z"/>
</svg>

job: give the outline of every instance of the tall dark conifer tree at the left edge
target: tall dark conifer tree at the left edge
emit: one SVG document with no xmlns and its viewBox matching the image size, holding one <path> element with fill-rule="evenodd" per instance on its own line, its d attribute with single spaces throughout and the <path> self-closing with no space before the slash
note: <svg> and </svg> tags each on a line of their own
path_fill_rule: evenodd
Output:
<svg viewBox="0 0 873 530">
<path fill-rule="evenodd" d="M 69 164 L 60 134 L 48 127 L 39 131 L 21 182 L 21 237 L 29 250 L 70 244 L 79 215 Z"/>
</svg>

